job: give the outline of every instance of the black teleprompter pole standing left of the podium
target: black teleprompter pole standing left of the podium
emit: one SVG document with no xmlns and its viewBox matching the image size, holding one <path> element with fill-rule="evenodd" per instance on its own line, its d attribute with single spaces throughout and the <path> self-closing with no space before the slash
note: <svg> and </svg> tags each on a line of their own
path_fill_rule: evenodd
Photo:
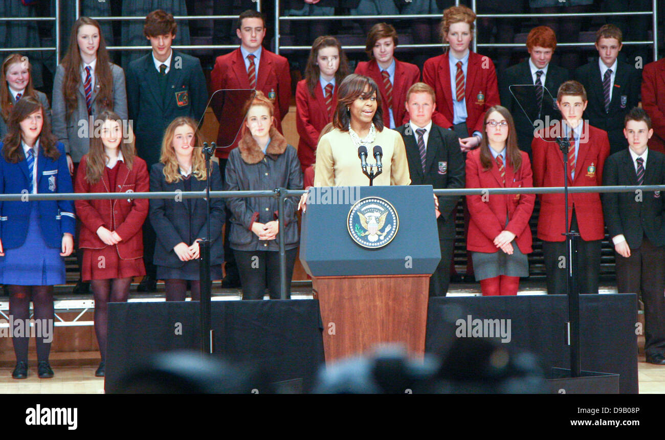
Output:
<svg viewBox="0 0 665 440">
<path fill-rule="evenodd" d="M 205 156 L 205 171 L 207 179 L 205 179 L 205 210 L 207 220 L 207 236 L 205 239 L 199 241 L 199 280 L 201 282 L 201 300 L 200 306 L 200 324 L 201 324 L 201 354 L 212 354 L 212 329 L 211 329 L 211 308 L 210 298 L 212 284 L 210 280 L 210 248 L 212 247 L 212 240 L 210 239 L 210 175 L 212 173 L 211 158 L 215 154 L 217 144 L 211 142 L 208 146 L 207 142 L 203 142 L 203 155 Z"/>
</svg>

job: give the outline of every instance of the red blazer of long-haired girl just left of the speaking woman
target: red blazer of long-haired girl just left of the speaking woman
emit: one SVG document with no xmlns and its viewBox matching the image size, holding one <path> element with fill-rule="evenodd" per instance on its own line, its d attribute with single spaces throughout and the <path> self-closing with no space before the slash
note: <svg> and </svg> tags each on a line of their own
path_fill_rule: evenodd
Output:
<svg viewBox="0 0 665 440">
<path fill-rule="evenodd" d="M 332 104 L 331 111 L 328 112 L 326 108 L 326 100 L 323 96 L 321 83 L 317 80 L 314 87 L 314 96 L 307 88 L 307 80 L 300 80 L 295 89 L 295 108 L 296 118 L 295 124 L 300 136 L 298 142 L 298 158 L 303 167 L 306 167 L 315 162 L 315 152 L 319 144 L 319 135 L 321 130 L 332 122 L 332 115 L 337 108 L 337 87 L 339 84 L 335 82 L 332 89 Z"/>
</svg>

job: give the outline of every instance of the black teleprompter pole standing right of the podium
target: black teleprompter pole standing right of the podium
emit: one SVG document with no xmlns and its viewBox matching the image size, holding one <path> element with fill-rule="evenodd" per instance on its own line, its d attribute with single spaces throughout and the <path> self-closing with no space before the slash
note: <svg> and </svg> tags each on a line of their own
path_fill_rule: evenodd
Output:
<svg viewBox="0 0 665 440">
<path fill-rule="evenodd" d="M 571 128 L 572 130 L 572 128 Z M 571 142 L 568 138 L 557 138 L 557 144 L 563 153 L 563 198 L 565 210 L 565 233 L 566 236 L 566 261 L 568 269 L 568 345 L 571 350 L 571 377 L 578 378 L 581 376 L 580 367 L 580 302 L 579 302 L 579 289 L 577 286 L 577 240 L 580 237 L 578 231 L 573 231 L 568 226 L 568 156 L 571 148 Z M 575 148 L 573 146 L 573 148 Z"/>
</svg>

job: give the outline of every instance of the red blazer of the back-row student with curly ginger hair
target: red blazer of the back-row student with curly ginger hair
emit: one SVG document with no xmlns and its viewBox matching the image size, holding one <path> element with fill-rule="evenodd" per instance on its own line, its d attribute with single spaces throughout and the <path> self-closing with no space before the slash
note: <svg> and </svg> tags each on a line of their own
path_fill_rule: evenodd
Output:
<svg viewBox="0 0 665 440">
<path fill-rule="evenodd" d="M 432 120 L 438 126 L 450 128 L 453 125 L 453 95 L 450 85 L 450 64 L 448 52 L 425 61 L 422 79 L 434 88 L 436 93 L 436 113 Z M 469 64 L 464 83 L 466 98 L 466 126 L 469 136 L 473 132 L 483 133 L 485 112 L 491 106 L 499 105 L 499 87 L 494 63 L 489 56 L 469 51 Z"/>
</svg>

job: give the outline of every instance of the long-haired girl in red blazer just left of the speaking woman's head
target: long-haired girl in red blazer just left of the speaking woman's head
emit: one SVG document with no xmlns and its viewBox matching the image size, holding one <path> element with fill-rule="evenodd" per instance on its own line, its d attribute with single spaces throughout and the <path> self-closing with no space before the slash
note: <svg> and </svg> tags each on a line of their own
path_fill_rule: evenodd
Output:
<svg viewBox="0 0 665 440">
<path fill-rule="evenodd" d="M 309 52 L 305 79 L 298 82 L 295 90 L 298 158 L 303 173 L 314 164 L 321 130 L 332 122 L 337 86 L 346 75 L 348 62 L 339 41 L 330 35 L 317 38 Z"/>
</svg>

